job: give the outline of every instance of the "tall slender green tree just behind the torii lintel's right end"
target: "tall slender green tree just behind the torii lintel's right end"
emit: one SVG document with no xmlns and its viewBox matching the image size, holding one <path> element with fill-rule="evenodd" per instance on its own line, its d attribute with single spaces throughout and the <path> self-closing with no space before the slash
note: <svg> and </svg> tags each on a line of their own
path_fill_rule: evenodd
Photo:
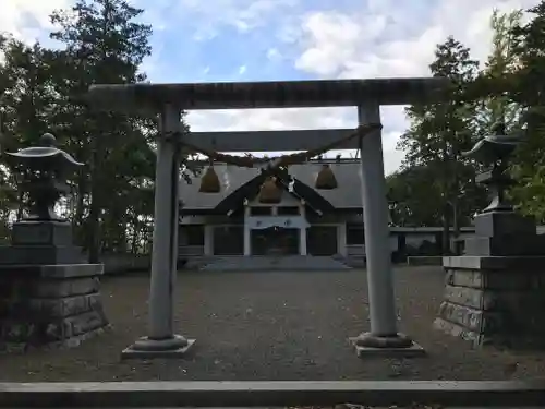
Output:
<svg viewBox="0 0 545 409">
<path fill-rule="evenodd" d="M 451 219 L 458 236 L 462 209 L 473 207 L 474 170 L 461 156 L 474 142 L 476 103 L 467 96 L 467 86 L 474 81 L 479 63 L 471 59 L 469 48 L 452 37 L 437 46 L 435 61 L 429 65 L 434 76 L 447 77 L 443 101 L 413 105 L 405 112 L 411 121 L 401 136 L 399 148 L 407 153 L 403 168 L 423 166 L 433 175 L 429 189 L 441 197 L 444 251 L 449 251 Z M 461 202 L 469 202 L 463 203 Z M 463 217 L 462 217 L 463 216 Z"/>
</svg>

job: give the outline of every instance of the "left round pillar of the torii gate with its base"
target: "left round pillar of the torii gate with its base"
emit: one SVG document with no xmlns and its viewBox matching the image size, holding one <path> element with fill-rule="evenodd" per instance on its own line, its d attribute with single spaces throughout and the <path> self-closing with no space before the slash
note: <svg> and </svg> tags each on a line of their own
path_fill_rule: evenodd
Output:
<svg viewBox="0 0 545 409">
<path fill-rule="evenodd" d="M 166 106 L 160 116 L 155 170 L 155 222 L 149 286 L 149 334 L 122 353 L 124 358 L 167 358 L 186 352 L 194 340 L 174 335 L 173 310 L 178 258 L 180 183 L 180 109 Z"/>
</svg>

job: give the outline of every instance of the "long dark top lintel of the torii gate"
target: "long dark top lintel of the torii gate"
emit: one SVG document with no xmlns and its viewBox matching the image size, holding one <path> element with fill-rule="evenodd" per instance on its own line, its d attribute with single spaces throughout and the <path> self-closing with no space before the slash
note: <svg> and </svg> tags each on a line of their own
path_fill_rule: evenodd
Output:
<svg viewBox="0 0 545 409">
<path fill-rule="evenodd" d="M 100 84 L 88 92 L 98 109 L 160 109 L 171 104 L 184 110 L 410 105 L 436 100 L 448 80 L 374 79 L 195 84 Z"/>
</svg>

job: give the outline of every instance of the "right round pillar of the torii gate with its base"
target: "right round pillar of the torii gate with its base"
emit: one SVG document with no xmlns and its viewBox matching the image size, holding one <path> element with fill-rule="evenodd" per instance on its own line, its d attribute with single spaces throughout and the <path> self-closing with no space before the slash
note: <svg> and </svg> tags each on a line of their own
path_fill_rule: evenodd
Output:
<svg viewBox="0 0 545 409">
<path fill-rule="evenodd" d="M 380 123 L 379 104 L 358 107 L 358 120 L 360 124 Z M 371 333 L 361 334 L 354 344 L 359 356 L 378 348 L 412 349 L 412 340 L 397 328 L 382 132 L 363 137 L 360 148 Z"/>
</svg>

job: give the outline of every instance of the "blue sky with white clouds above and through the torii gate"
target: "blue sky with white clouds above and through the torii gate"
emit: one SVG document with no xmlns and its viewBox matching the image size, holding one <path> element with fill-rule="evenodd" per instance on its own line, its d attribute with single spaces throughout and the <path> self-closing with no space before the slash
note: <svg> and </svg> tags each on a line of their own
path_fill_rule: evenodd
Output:
<svg viewBox="0 0 545 409">
<path fill-rule="evenodd" d="M 47 38 L 48 14 L 73 0 L 2 0 L 0 31 Z M 484 60 L 495 8 L 537 0 L 130 0 L 153 24 L 153 82 L 366 79 L 428 75 L 435 45 L 448 35 Z M 385 169 L 407 128 L 402 107 L 382 109 Z M 194 131 L 355 127 L 355 109 L 190 112 Z M 310 146 L 311 147 L 311 146 Z M 336 154 L 336 153 L 334 153 Z"/>
</svg>

